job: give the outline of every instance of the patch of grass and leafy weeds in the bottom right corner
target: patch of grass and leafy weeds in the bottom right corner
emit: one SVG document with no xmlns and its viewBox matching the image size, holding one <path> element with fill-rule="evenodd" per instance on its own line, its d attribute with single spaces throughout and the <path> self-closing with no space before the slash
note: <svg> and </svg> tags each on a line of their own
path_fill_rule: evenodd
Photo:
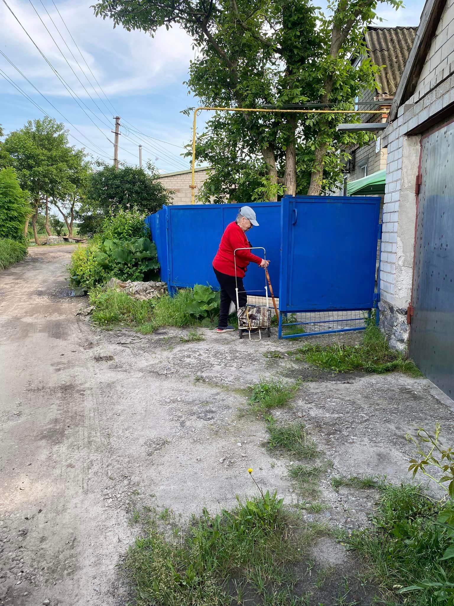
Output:
<svg viewBox="0 0 454 606">
<path fill-rule="evenodd" d="M 442 502 L 433 502 L 415 485 L 384 485 L 372 528 L 355 531 L 347 539 L 350 548 L 363 556 L 370 578 L 379 582 L 389 604 L 429 606 L 452 605 L 454 594 L 438 594 L 441 585 L 454 583 L 452 559 L 441 561 L 452 541 L 444 529 L 434 522 Z M 438 584 L 425 590 L 404 592 L 399 588 L 411 587 L 421 581 Z M 404 601 L 405 600 L 405 601 Z"/>
</svg>

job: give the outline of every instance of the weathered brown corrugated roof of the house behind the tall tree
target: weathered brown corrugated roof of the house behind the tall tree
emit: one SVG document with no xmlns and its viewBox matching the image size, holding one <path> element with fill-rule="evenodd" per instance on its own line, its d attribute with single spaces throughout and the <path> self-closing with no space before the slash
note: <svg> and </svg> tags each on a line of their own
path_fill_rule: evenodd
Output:
<svg viewBox="0 0 454 606">
<path fill-rule="evenodd" d="M 413 46 L 417 27 L 369 27 L 366 45 L 376 65 L 385 65 L 377 75 L 381 95 L 394 95 Z"/>
</svg>

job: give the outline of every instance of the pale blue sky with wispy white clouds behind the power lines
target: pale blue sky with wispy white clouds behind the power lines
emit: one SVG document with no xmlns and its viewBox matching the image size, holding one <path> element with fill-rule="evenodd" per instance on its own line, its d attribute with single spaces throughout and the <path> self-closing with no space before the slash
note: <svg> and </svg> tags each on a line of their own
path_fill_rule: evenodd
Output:
<svg viewBox="0 0 454 606">
<path fill-rule="evenodd" d="M 4 132 L 21 128 L 28 119 L 42 118 L 44 110 L 64 122 L 71 145 L 85 147 L 93 158 L 110 162 L 117 114 L 122 133 L 120 161 L 138 164 L 142 144 L 143 162 L 150 160 L 161 173 L 189 168 L 188 159 L 180 154 L 192 133 L 192 117 L 181 111 L 197 104 L 183 84 L 189 61 L 194 59 L 191 39 L 177 27 L 161 28 L 154 38 L 122 27 L 114 29 L 110 20 L 94 16 L 91 4 L 93 0 L 0 0 L 0 124 Z M 379 4 L 383 22 L 377 25 L 418 25 L 423 5 L 423 0 L 407 0 L 406 7 L 395 11 Z M 198 131 L 203 121 L 204 116 L 197 119 Z"/>
</svg>

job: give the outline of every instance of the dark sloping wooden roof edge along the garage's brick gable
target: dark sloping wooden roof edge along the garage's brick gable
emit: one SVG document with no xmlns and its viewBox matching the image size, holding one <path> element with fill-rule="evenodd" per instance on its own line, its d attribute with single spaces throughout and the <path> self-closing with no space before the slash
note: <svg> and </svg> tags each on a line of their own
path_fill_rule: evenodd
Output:
<svg viewBox="0 0 454 606">
<path fill-rule="evenodd" d="M 446 0 L 426 0 L 426 4 L 424 4 L 415 42 L 389 112 L 390 122 L 396 119 L 400 105 L 405 103 L 415 92 L 424 61 L 429 52 L 430 43 L 435 35 L 445 5 Z"/>
</svg>

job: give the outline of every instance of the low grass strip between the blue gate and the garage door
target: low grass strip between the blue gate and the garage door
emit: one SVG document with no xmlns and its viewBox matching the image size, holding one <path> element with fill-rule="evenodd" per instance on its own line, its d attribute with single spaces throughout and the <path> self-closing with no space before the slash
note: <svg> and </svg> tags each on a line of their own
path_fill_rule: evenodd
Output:
<svg viewBox="0 0 454 606">
<path fill-rule="evenodd" d="M 407 359 L 400 351 L 392 350 L 375 324 L 366 328 L 363 342 L 359 345 L 306 344 L 297 350 L 295 359 L 335 373 L 387 373 L 397 370 L 412 377 L 421 376 L 415 362 Z"/>
</svg>

